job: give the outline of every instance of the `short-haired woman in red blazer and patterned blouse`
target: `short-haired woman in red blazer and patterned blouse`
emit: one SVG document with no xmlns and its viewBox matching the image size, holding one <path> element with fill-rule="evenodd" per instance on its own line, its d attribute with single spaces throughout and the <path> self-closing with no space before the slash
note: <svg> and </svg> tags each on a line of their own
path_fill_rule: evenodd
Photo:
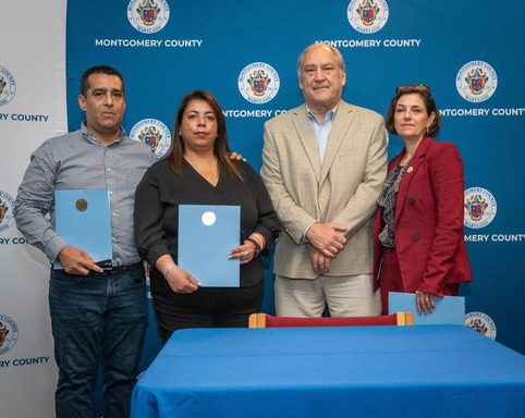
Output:
<svg viewBox="0 0 525 418">
<path fill-rule="evenodd" d="M 432 139 L 441 118 L 426 86 L 398 88 L 386 120 L 404 149 L 389 174 L 374 220 L 374 278 L 383 314 L 389 292 L 416 294 L 417 311 L 457 295 L 472 280 L 463 235 L 463 163 L 452 143 Z"/>
</svg>

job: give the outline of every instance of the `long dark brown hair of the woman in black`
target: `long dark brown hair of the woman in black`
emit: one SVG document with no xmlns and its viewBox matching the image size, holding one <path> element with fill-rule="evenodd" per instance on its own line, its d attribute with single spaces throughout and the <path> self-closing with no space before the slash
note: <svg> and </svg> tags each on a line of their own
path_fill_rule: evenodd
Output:
<svg viewBox="0 0 525 418">
<path fill-rule="evenodd" d="M 187 104 L 192 100 L 203 100 L 210 106 L 217 120 L 217 138 L 213 144 L 213 155 L 217 157 L 219 164 L 225 167 L 227 171 L 232 177 L 243 180 L 241 172 L 230 158 L 231 149 L 228 144 L 227 123 L 224 120 L 224 114 L 222 113 L 222 109 L 217 99 L 206 90 L 195 90 L 188 93 L 181 100 L 181 104 L 179 106 L 179 110 L 176 111 L 175 115 L 175 125 L 173 128 L 173 146 L 169 155 L 166 157 L 170 163 L 171 170 L 173 170 L 175 174 L 182 174 L 182 163 L 184 161 L 185 145 L 182 136 L 180 135 L 180 130 L 184 112 L 186 111 Z"/>
</svg>

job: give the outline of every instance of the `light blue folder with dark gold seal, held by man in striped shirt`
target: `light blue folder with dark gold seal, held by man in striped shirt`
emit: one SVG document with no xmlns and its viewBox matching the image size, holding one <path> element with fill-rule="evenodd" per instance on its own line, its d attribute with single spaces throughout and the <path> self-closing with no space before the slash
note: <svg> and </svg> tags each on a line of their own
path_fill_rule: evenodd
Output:
<svg viewBox="0 0 525 418">
<path fill-rule="evenodd" d="M 111 206 L 107 188 L 54 190 L 57 233 L 100 266 L 111 266 Z M 62 269 L 59 261 L 56 269 Z"/>
</svg>

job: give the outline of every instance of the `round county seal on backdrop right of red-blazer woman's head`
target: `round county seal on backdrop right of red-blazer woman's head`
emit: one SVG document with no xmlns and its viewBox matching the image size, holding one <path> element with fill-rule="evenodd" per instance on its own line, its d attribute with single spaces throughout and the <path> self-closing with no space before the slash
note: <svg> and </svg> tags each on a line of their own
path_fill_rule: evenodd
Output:
<svg viewBox="0 0 525 418">
<path fill-rule="evenodd" d="M 498 87 L 498 75 L 486 62 L 471 61 L 457 72 L 455 86 L 465 100 L 481 102 L 495 94 Z"/>
</svg>

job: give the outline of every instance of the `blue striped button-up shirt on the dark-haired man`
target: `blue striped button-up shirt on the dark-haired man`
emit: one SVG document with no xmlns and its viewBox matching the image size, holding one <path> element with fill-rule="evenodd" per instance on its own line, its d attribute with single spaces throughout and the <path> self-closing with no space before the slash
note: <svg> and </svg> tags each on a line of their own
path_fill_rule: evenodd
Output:
<svg viewBox="0 0 525 418">
<path fill-rule="evenodd" d="M 121 131 L 120 138 L 105 146 L 83 123 L 78 131 L 47 139 L 30 156 L 14 217 L 27 242 L 50 260 L 69 245 L 54 231 L 54 190 L 77 188 L 110 190 L 113 266 L 141 260 L 133 232 L 135 188 L 156 157 Z"/>
</svg>

